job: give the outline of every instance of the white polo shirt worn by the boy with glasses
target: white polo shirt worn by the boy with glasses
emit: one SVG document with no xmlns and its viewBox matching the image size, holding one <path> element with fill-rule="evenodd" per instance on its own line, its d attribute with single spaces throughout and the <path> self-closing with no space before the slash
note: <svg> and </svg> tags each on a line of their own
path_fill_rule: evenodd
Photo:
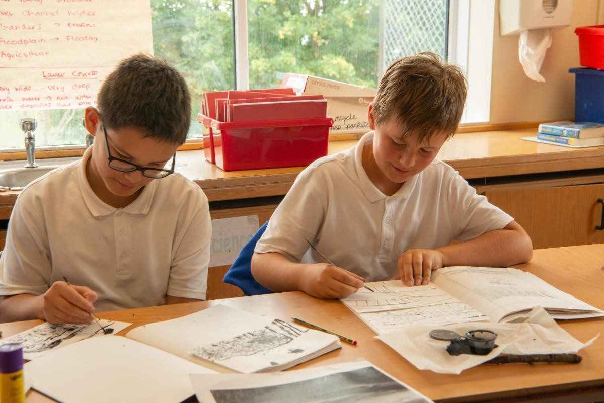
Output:
<svg viewBox="0 0 604 403">
<path fill-rule="evenodd" d="M 98 293 L 97 311 L 205 299 L 210 262 L 208 200 L 179 174 L 155 179 L 130 205 L 94 194 L 82 159 L 25 188 L 0 259 L 0 295 L 45 293 L 65 276 Z"/>
</svg>

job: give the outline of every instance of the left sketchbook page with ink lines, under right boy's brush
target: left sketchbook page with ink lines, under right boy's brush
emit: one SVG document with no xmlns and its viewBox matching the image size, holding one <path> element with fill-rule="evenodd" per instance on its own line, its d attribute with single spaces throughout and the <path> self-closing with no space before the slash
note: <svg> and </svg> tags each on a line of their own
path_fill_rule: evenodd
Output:
<svg viewBox="0 0 604 403">
<path fill-rule="evenodd" d="M 377 334 L 413 325 L 489 321 L 435 284 L 407 287 L 400 280 L 365 283 L 341 301 Z"/>
</svg>

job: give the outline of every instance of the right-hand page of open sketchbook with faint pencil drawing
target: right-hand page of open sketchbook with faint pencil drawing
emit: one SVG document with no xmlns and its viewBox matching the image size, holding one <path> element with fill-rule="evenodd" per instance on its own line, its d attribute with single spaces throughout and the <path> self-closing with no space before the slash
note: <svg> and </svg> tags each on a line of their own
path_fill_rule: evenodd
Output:
<svg viewBox="0 0 604 403">
<path fill-rule="evenodd" d="M 443 267 L 432 273 L 432 281 L 495 322 L 508 322 L 513 319 L 506 318 L 509 314 L 536 306 L 554 319 L 604 316 L 600 309 L 516 268 Z"/>
</svg>

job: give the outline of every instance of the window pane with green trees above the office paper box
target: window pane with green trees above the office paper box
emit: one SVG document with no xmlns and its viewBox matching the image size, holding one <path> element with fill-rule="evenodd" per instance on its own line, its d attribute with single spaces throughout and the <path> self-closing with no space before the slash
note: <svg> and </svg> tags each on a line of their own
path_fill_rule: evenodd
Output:
<svg viewBox="0 0 604 403">
<path fill-rule="evenodd" d="M 379 0 L 248 0 L 249 86 L 283 74 L 375 87 Z"/>
</svg>

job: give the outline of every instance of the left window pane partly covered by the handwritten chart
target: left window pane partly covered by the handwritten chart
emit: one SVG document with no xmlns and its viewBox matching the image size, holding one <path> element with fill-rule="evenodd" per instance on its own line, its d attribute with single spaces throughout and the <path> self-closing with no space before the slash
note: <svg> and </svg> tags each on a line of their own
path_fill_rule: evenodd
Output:
<svg viewBox="0 0 604 403">
<path fill-rule="evenodd" d="M 187 80 L 193 103 L 189 137 L 199 137 L 201 94 L 234 87 L 232 1 L 152 0 L 151 8 L 153 52 Z M 11 110 L 0 111 L 0 148 L 24 147 L 19 120 L 26 116 L 37 121 L 37 147 L 84 143 L 83 109 Z"/>
</svg>

